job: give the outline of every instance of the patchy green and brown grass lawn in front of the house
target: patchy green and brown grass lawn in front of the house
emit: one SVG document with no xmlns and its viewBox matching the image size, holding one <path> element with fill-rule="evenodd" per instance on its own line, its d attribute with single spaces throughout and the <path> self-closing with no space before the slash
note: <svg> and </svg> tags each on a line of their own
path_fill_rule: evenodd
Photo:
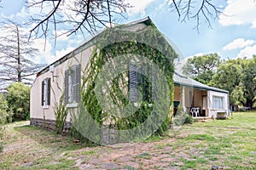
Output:
<svg viewBox="0 0 256 170">
<path fill-rule="evenodd" d="M 29 122 L 6 127 L 0 169 L 256 169 L 256 111 L 197 122 L 144 143 L 86 146 Z"/>
</svg>

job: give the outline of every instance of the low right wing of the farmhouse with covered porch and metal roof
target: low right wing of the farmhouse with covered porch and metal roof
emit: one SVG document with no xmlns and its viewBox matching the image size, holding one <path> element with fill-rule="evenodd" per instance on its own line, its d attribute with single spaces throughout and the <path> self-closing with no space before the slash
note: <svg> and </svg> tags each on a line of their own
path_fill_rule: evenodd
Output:
<svg viewBox="0 0 256 170">
<path fill-rule="evenodd" d="M 192 116 L 227 117 L 229 92 L 212 88 L 183 74 L 174 73 L 174 110 L 181 105 Z"/>
</svg>

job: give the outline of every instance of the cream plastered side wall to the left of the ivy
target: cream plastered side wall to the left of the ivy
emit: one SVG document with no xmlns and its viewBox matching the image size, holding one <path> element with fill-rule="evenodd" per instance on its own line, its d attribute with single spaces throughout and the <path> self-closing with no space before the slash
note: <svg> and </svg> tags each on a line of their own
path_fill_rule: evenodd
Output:
<svg viewBox="0 0 256 170">
<path fill-rule="evenodd" d="M 64 93 L 64 73 L 73 66 L 81 64 L 81 71 L 84 71 L 85 66 L 89 63 L 90 56 L 93 47 L 86 48 L 78 54 L 73 55 L 72 58 L 67 59 L 61 65 L 57 65 L 54 68 L 54 80 L 50 71 L 44 72 L 38 76 L 32 84 L 31 98 L 30 98 L 30 116 L 31 118 L 40 118 L 46 120 L 55 120 L 55 105 L 58 105 L 61 99 L 62 93 Z M 45 78 L 50 78 L 50 105 L 43 107 L 41 105 L 42 99 L 42 81 Z M 70 114 L 67 115 L 67 122 L 71 119 Z"/>
</svg>

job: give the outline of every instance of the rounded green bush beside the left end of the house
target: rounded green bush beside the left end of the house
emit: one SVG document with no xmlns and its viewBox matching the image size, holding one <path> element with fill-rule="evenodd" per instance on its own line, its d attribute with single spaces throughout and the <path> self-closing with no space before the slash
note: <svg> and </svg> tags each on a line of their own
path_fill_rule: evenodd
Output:
<svg viewBox="0 0 256 170">
<path fill-rule="evenodd" d="M 14 121 L 28 120 L 30 108 L 30 88 L 22 82 L 15 82 L 8 88 L 6 100 L 9 105 L 9 112 L 14 113 Z"/>
</svg>

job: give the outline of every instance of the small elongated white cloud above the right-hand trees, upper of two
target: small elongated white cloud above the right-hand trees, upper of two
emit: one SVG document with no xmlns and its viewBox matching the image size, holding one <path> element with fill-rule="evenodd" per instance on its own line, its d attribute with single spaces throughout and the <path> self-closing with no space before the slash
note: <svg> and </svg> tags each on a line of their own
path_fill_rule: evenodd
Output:
<svg viewBox="0 0 256 170">
<path fill-rule="evenodd" d="M 244 38 L 237 38 L 233 42 L 228 43 L 224 46 L 224 50 L 233 50 L 238 48 L 244 48 L 253 45 L 253 40 L 245 40 Z"/>
</svg>

